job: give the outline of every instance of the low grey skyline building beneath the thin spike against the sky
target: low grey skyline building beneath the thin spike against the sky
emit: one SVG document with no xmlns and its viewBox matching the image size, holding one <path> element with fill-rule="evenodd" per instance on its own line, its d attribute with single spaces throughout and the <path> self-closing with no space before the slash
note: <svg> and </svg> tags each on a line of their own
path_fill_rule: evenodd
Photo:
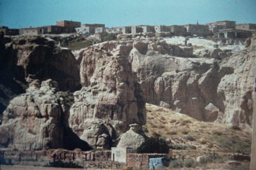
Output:
<svg viewBox="0 0 256 170">
<path fill-rule="evenodd" d="M 196 34 L 196 36 L 209 36 L 212 34 L 207 25 L 200 25 L 197 23 L 186 24 L 184 27 L 186 28 L 186 31 L 191 35 Z"/>
</svg>

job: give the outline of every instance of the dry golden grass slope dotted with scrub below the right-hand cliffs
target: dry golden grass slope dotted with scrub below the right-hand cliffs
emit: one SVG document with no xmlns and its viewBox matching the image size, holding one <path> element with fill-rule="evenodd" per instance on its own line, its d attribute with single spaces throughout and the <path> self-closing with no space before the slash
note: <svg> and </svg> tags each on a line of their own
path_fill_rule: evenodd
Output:
<svg viewBox="0 0 256 170">
<path fill-rule="evenodd" d="M 233 150 L 235 153 L 250 153 L 250 129 L 200 122 L 153 104 L 147 104 L 146 108 L 147 136 L 161 135 L 171 146 L 179 148 L 178 155 L 196 159 L 200 155 L 213 152 L 223 157 L 232 154 Z M 193 139 L 188 136 L 193 136 Z"/>
</svg>

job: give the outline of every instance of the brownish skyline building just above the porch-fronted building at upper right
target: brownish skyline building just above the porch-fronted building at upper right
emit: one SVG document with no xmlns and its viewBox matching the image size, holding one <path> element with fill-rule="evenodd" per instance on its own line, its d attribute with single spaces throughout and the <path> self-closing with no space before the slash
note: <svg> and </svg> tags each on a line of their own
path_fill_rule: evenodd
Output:
<svg viewBox="0 0 256 170">
<path fill-rule="evenodd" d="M 221 20 L 216 22 L 207 23 L 209 30 L 212 33 L 218 32 L 220 29 L 235 29 L 236 21 L 231 20 Z"/>
</svg>

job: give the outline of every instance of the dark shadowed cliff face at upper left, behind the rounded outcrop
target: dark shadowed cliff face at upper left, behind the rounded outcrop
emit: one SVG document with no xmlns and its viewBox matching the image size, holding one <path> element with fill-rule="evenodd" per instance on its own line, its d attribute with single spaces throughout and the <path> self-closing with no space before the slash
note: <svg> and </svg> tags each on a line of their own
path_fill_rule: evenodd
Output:
<svg viewBox="0 0 256 170">
<path fill-rule="evenodd" d="M 0 111 L 33 80 L 51 78 L 60 90 L 80 86 L 79 62 L 69 50 L 55 46 L 52 39 L 15 36 L 5 46 L 4 39 L 0 41 Z"/>
</svg>

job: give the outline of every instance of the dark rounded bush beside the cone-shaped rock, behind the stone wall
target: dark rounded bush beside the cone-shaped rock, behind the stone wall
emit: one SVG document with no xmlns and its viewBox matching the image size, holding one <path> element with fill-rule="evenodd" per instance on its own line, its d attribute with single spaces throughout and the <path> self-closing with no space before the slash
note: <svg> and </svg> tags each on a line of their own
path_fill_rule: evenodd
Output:
<svg viewBox="0 0 256 170">
<path fill-rule="evenodd" d="M 145 139 L 145 141 L 138 147 L 138 153 L 168 153 L 169 146 L 166 141 L 159 136 L 154 136 Z"/>
</svg>

